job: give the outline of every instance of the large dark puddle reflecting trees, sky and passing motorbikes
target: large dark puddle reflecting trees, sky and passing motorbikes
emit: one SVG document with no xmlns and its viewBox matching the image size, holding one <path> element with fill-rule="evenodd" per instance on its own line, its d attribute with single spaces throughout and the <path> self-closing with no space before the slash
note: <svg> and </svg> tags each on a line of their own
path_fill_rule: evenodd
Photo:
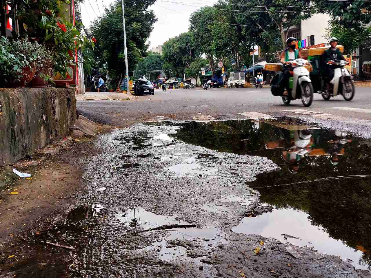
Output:
<svg viewBox="0 0 371 278">
<path fill-rule="evenodd" d="M 260 192 L 260 202 L 273 206 L 273 212 L 246 217 L 233 231 L 282 241 L 284 234 L 292 235 L 299 239 L 286 238 L 295 245 L 315 246 L 319 252 L 341 256 L 356 268 L 370 269 L 370 140 L 290 118 L 158 125 L 181 126 L 169 134 L 180 142 L 263 156 L 280 166 L 279 171 L 260 173 L 256 181 L 247 182 Z M 182 167 L 169 170 L 179 173 Z M 249 202 L 239 196 L 223 201 Z"/>
</svg>

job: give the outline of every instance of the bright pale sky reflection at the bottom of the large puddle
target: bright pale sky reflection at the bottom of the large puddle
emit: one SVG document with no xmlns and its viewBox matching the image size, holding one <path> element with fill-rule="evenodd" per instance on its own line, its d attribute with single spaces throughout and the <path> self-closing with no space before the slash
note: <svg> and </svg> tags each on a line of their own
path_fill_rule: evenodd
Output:
<svg viewBox="0 0 371 278">
<path fill-rule="evenodd" d="M 349 227 L 352 229 L 352 227 Z M 313 226 L 308 214 L 294 209 L 274 209 L 272 213 L 265 213 L 255 218 L 244 217 L 240 224 L 232 227 L 232 231 L 242 234 L 259 234 L 267 238 L 280 239 L 297 246 L 315 246 L 319 253 L 341 256 L 341 259 L 351 259 L 356 268 L 367 268 L 367 264 L 359 264 L 362 257 L 361 251 L 343 244 L 342 241 L 329 237 L 322 227 Z"/>
</svg>

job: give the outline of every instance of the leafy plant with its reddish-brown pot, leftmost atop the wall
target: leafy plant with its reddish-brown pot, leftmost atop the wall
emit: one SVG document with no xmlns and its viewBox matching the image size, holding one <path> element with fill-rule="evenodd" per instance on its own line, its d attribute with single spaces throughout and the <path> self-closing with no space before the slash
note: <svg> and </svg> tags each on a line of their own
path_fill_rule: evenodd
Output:
<svg viewBox="0 0 371 278">
<path fill-rule="evenodd" d="M 9 41 L 0 36 L 0 82 L 5 87 L 25 87 L 35 76 L 37 53 L 43 47 L 27 37 Z"/>
</svg>

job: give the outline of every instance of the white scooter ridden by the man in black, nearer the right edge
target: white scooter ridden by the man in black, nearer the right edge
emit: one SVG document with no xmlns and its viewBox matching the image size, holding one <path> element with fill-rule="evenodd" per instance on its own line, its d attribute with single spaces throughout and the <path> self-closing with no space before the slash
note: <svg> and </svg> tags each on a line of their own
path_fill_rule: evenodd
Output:
<svg viewBox="0 0 371 278">
<path fill-rule="evenodd" d="M 355 94 L 354 81 L 352 75 L 348 72 L 345 66 L 348 64 L 344 60 L 330 60 L 327 62 L 329 66 L 334 67 L 334 78 L 330 82 L 330 90 L 326 93 L 326 84 L 324 80 L 321 81 L 321 91 L 318 91 L 322 95 L 324 100 L 329 100 L 331 97 L 342 95 L 345 100 L 351 101 Z"/>
</svg>

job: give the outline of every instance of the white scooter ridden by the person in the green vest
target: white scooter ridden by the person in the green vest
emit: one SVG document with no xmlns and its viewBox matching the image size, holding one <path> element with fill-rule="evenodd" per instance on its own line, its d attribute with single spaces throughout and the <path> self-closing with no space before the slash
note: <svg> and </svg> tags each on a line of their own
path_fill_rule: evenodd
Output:
<svg viewBox="0 0 371 278">
<path fill-rule="evenodd" d="M 292 83 L 290 81 L 291 92 L 289 90 L 287 96 L 282 96 L 282 101 L 286 105 L 289 105 L 291 100 L 300 98 L 304 106 L 308 107 L 312 104 L 314 90 L 309 78 L 309 70 L 304 67 L 306 64 L 309 64 L 308 60 L 299 58 L 285 65 L 293 67 Z"/>
</svg>

